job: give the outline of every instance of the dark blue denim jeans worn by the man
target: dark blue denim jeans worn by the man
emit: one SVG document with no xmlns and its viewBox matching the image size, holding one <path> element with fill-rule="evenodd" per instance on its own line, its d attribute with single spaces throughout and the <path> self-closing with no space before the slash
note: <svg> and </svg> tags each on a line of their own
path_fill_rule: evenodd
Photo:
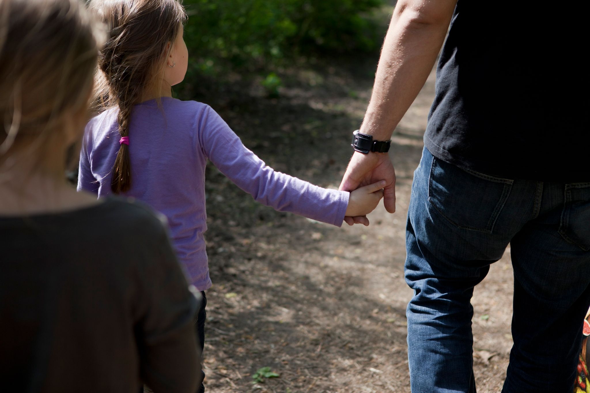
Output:
<svg viewBox="0 0 590 393">
<path fill-rule="evenodd" d="M 509 243 L 514 345 L 503 392 L 572 392 L 590 305 L 590 183 L 501 179 L 424 149 L 406 232 L 413 393 L 476 392 L 470 299 Z"/>
</svg>

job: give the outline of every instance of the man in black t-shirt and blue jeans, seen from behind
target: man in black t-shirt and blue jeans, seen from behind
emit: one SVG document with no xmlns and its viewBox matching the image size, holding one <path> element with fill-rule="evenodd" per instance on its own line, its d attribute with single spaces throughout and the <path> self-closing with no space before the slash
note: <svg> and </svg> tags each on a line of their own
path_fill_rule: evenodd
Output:
<svg viewBox="0 0 590 393">
<path fill-rule="evenodd" d="M 476 391 L 470 298 L 509 243 L 514 346 L 503 392 L 572 391 L 578 321 L 590 304 L 590 103 L 579 94 L 588 91 L 587 11 L 532 1 L 396 4 L 360 129 L 372 141 L 389 140 L 448 31 L 408 212 L 414 393 Z M 375 152 L 383 150 L 356 151 L 340 189 L 386 179 L 393 213 L 395 172 Z"/>
</svg>

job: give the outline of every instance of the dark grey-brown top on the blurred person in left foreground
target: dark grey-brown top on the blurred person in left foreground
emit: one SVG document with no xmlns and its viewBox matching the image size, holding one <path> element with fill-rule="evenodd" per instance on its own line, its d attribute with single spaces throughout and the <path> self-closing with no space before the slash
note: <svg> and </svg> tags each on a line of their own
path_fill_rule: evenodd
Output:
<svg viewBox="0 0 590 393">
<path fill-rule="evenodd" d="M 0 217 L 0 247 L 2 390 L 196 391 L 196 299 L 146 207 Z"/>
</svg>

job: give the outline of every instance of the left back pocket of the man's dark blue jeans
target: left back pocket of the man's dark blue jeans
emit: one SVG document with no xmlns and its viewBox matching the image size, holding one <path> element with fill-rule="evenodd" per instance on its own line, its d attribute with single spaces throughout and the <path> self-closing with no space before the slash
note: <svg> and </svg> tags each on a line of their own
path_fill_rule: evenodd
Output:
<svg viewBox="0 0 590 393">
<path fill-rule="evenodd" d="M 513 180 L 489 176 L 432 158 L 428 200 L 461 229 L 491 233 Z"/>
</svg>

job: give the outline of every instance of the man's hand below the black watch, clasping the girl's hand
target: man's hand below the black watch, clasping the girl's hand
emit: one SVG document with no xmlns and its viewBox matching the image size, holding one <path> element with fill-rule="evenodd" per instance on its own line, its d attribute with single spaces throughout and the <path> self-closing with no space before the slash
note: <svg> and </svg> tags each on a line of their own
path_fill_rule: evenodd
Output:
<svg viewBox="0 0 590 393">
<path fill-rule="evenodd" d="M 386 153 L 369 153 L 362 154 L 355 151 L 346 173 L 340 183 L 339 190 L 352 191 L 358 187 L 368 186 L 385 180 L 383 186 L 383 204 L 389 213 L 395 212 L 395 170 L 389 160 L 389 154 Z M 344 217 L 347 224 L 364 224 L 369 225 L 369 219 L 366 216 Z"/>
</svg>

